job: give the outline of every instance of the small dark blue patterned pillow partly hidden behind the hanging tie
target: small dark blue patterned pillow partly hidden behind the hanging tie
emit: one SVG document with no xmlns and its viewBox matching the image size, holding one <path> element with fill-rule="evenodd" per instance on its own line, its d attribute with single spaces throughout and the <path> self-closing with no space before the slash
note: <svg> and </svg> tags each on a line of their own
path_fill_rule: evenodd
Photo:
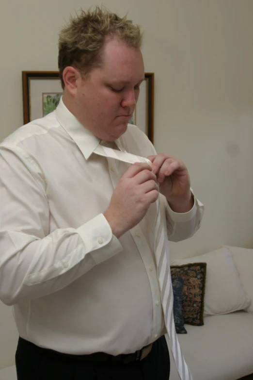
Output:
<svg viewBox="0 0 253 380">
<path fill-rule="evenodd" d="M 173 314 L 175 329 L 178 334 L 187 334 L 184 328 L 184 317 L 182 310 L 182 291 L 184 285 L 184 279 L 172 277 L 172 289 L 173 289 Z"/>
</svg>

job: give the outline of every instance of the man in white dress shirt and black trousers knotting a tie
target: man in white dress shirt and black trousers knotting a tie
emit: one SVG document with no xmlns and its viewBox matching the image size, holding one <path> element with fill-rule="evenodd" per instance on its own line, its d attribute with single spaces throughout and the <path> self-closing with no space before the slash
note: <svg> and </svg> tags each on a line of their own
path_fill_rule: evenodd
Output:
<svg viewBox="0 0 253 380">
<path fill-rule="evenodd" d="M 1 143 L 0 298 L 14 305 L 18 380 L 169 378 L 158 183 L 170 240 L 199 228 L 203 206 L 186 166 L 127 125 L 144 78 L 141 40 L 126 18 L 82 11 L 60 33 L 56 111 Z"/>
</svg>

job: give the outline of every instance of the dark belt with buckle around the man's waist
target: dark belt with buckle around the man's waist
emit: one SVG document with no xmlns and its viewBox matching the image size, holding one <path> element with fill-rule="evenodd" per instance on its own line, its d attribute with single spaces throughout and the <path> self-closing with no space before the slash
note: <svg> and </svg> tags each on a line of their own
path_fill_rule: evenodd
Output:
<svg viewBox="0 0 253 380">
<path fill-rule="evenodd" d="M 143 347 L 142 349 L 135 351 L 132 354 L 120 354 L 120 355 L 110 355 L 106 354 L 105 352 L 95 352 L 93 354 L 89 355 L 72 355 L 72 354 L 65 354 L 62 352 L 57 352 L 59 355 L 67 356 L 71 358 L 72 360 L 80 360 L 80 361 L 87 361 L 87 362 L 111 362 L 111 363 L 122 363 L 127 364 L 131 362 L 141 361 L 143 360 L 151 351 L 153 346 L 153 343 L 151 343 L 148 346 Z M 53 351 L 56 353 L 56 351 Z"/>
</svg>

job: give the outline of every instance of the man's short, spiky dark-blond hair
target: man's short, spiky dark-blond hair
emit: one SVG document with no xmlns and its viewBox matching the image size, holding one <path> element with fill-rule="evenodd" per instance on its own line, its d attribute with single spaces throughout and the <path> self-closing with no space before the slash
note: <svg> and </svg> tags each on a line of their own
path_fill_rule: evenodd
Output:
<svg viewBox="0 0 253 380">
<path fill-rule="evenodd" d="M 139 25 L 104 7 L 95 6 L 94 11 L 80 10 L 79 16 L 70 18 L 69 24 L 59 34 L 58 67 L 63 88 L 65 67 L 74 66 L 85 75 L 102 65 L 101 50 L 106 37 L 118 38 L 136 49 L 142 44 Z"/>
</svg>

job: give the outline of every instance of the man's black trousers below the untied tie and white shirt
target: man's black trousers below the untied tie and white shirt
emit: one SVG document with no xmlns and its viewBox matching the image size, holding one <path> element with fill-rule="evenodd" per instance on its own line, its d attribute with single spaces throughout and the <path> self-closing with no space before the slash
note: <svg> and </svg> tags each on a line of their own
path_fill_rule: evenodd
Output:
<svg viewBox="0 0 253 380">
<path fill-rule="evenodd" d="M 168 380 L 170 357 L 164 336 L 145 359 L 127 364 L 84 361 L 19 338 L 16 371 L 18 380 Z"/>
</svg>

